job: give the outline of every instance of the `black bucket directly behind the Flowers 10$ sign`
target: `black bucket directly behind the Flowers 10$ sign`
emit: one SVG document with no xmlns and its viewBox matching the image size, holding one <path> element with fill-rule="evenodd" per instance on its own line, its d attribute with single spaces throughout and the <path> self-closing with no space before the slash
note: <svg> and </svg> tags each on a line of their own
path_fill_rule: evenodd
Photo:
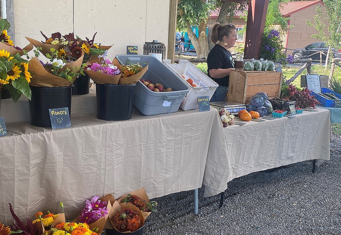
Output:
<svg viewBox="0 0 341 235">
<path fill-rule="evenodd" d="M 48 110 L 50 108 L 69 108 L 71 117 L 71 89 L 72 86 L 39 87 L 30 86 L 31 100 L 28 101 L 31 125 L 36 127 L 51 127 Z"/>
</svg>

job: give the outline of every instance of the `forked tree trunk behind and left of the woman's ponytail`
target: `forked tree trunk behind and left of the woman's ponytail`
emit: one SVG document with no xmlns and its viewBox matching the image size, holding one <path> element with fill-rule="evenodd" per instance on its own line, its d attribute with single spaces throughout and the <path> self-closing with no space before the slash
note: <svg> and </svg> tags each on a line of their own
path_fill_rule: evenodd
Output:
<svg viewBox="0 0 341 235">
<path fill-rule="evenodd" d="M 193 33 L 190 23 L 186 20 L 187 34 L 191 39 L 193 47 L 197 53 L 197 58 L 207 58 L 208 55 L 208 43 L 207 43 L 207 19 L 203 20 L 198 27 L 199 36 L 198 38 Z"/>
</svg>

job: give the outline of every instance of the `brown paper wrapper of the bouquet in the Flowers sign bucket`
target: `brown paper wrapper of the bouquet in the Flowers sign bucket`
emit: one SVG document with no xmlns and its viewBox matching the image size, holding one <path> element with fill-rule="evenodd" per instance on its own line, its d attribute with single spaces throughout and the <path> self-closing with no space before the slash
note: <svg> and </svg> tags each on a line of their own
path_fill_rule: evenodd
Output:
<svg viewBox="0 0 341 235">
<path fill-rule="evenodd" d="M 66 63 L 66 65 L 60 69 L 63 71 L 68 68 L 81 66 L 84 54 L 75 62 Z M 58 76 L 55 76 L 49 72 L 47 72 L 44 66 L 40 63 L 37 57 L 33 57 L 30 60 L 30 64 L 28 64 L 28 69 L 31 72 L 31 86 L 40 86 L 40 87 L 62 87 L 62 86 L 71 86 L 72 82 L 68 79 L 63 79 Z M 75 80 L 75 78 L 73 79 Z"/>
</svg>

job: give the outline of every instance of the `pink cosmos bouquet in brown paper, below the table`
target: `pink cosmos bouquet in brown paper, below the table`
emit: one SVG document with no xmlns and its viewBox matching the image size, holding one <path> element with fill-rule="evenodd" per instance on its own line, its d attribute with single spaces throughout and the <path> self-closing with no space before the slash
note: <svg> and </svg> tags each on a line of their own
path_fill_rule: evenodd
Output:
<svg viewBox="0 0 341 235">
<path fill-rule="evenodd" d="M 91 200 L 86 200 L 85 208 L 82 209 L 81 214 L 77 216 L 72 222 L 87 223 L 91 230 L 97 228 L 99 234 L 102 233 L 106 223 L 109 224 L 109 213 L 112 209 L 111 201 L 115 198 L 108 194 L 102 198 L 94 196 Z"/>
</svg>

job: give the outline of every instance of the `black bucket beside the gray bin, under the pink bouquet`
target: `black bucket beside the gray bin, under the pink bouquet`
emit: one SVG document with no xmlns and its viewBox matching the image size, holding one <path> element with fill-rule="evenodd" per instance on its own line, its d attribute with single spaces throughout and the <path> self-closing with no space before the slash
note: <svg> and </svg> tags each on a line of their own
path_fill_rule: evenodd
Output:
<svg viewBox="0 0 341 235">
<path fill-rule="evenodd" d="M 132 85 L 96 84 L 97 117 L 108 121 L 131 119 L 134 87 Z"/>
</svg>

